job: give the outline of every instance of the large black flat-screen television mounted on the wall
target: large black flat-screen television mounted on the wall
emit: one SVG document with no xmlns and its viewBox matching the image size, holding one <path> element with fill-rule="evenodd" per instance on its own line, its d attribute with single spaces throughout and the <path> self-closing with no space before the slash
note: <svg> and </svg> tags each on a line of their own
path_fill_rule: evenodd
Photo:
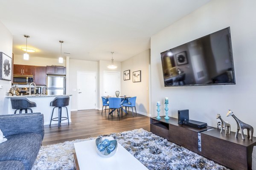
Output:
<svg viewBox="0 0 256 170">
<path fill-rule="evenodd" d="M 236 84 L 230 27 L 161 53 L 165 86 Z"/>
</svg>

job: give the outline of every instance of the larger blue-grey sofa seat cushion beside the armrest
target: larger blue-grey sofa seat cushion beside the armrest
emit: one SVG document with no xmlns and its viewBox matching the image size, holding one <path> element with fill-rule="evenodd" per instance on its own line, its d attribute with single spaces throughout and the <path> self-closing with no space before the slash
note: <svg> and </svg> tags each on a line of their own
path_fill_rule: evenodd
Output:
<svg viewBox="0 0 256 170">
<path fill-rule="evenodd" d="M 8 140 L 0 144 L 0 161 L 22 161 L 25 170 L 31 170 L 41 147 L 41 135 L 23 133 L 6 138 Z"/>
</svg>

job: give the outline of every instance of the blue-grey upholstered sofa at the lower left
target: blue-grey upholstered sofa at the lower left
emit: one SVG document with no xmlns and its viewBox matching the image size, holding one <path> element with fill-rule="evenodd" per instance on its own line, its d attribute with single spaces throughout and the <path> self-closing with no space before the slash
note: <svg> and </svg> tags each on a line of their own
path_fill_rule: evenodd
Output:
<svg viewBox="0 0 256 170">
<path fill-rule="evenodd" d="M 0 144 L 0 170 L 31 170 L 44 139 L 44 115 L 0 115 L 0 129 L 7 139 Z"/>
</svg>

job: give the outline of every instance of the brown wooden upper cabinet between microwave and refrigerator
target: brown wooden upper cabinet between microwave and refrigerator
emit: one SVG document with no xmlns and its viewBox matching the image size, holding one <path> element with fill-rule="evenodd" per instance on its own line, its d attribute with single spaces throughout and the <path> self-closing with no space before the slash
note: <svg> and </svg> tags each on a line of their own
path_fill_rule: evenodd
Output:
<svg viewBox="0 0 256 170">
<path fill-rule="evenodd" d="M 46 67 L 34 66 L 34 80 L 36 85 L 46 85 Z"/>
</svg>

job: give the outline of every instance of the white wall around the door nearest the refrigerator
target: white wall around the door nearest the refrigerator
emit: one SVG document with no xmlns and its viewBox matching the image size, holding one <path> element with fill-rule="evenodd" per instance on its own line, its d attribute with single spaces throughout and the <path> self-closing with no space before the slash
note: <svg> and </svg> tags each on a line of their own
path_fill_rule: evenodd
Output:
<svg viewBox="0 0 256 170">
<path fill-rule="evenodd" d="M 96 72 L 98 75 L 98 62 L 79 59 L 70 59 L 69 61 L 69 94 L 72 94 L 71 111 L 77 110 L 77 71 Z M 97 78 L 96 78 L 97 79 Z M 98 82 L 96 82 L 98 84 Z M 98 94 L 96 94 L 98 96 Z M 96 106 L 98 105 L 96 100 Z"/>
</svg>

